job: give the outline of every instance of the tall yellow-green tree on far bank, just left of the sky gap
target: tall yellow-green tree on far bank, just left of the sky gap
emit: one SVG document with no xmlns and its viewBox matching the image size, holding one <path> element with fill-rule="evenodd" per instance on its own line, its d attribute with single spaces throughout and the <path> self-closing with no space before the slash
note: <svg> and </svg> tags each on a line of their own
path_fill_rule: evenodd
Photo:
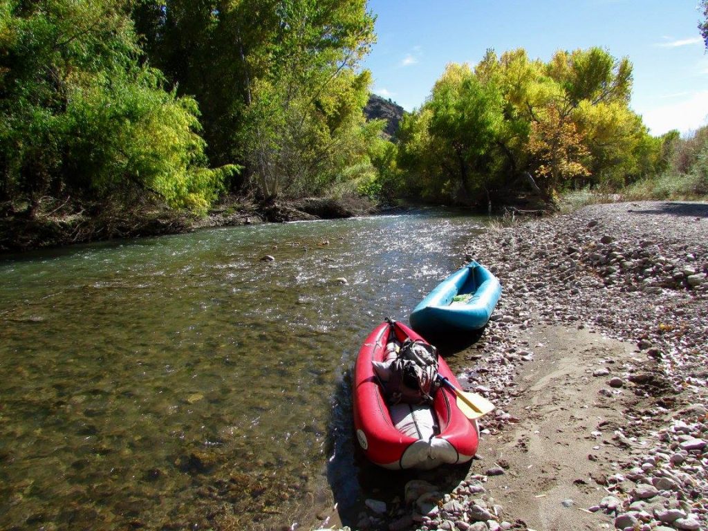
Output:
<svg viewBox="0 0 708 531">
<path fill-rule="evenodd" d="M 265 198 L 321 193 L 367 159 L 362 108 L 374 39 L 363 0 L 280 3 L 278 38 L 246 111 L 246 161 Z"/>
</svg>

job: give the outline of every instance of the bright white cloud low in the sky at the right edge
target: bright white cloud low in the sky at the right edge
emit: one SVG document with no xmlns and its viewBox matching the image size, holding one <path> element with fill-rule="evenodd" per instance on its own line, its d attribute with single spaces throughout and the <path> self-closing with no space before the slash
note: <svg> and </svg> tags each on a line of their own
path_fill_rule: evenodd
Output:
<svg viewBox="0 0 708 531">
<path fill-rule="evenodd" d="M 663 135 L 672 129 L 682 134 L 695 131 L 708 123 L 708 90 L 688 94 L 681 101 L 638 111 L 652 135 Z"/>
</svg>

